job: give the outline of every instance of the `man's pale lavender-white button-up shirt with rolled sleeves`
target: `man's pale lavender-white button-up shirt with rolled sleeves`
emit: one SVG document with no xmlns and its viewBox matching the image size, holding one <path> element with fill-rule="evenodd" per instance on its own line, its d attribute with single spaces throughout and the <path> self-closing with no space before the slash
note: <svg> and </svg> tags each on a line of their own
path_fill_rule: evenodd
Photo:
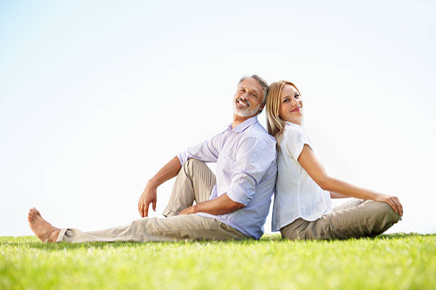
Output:
<svg viewBox="0 0 436 290">
<path fill-rule="evenodd" d="M 264 234 L 264 223 L 269 212 L 271 196 L 276 183 L 276 140 L 251 117 L 212 139 L 192 146 L 177 154 L 183 165 L 194 158 L 217 163 L 217 185 L 210 199 L 224 193 L 245 205 L 225 215 L 197 213 L 224 222 L 246 235 L 259 239 Z"/>
</svg>

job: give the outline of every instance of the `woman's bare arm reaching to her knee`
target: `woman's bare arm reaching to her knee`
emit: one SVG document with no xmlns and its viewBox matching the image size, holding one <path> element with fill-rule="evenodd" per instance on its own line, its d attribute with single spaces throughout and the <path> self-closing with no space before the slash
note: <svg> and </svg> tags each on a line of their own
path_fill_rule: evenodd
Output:
<svg viewBox="0 0 436 290">
<path fill-rule="evenodd" d="M 304 144 L 303 151 L 301 151 L 298 161 L 301 166 L 303 166 L 304 170 L 306 170 L 308 175 L 311 176 L 313 181 L 315 181 L 323 190 L 346 195 L 350 198 L 370 199 L 388 203 L 395 213 L 398 213 L 400 216 L 403 215 L 403 205 L 401 205 L 400 200 L 398 200 L 396 196 L 385 195 L 373 190 L 353 186 L 350 183 L 328 176 L 326 170 L 316 158 L 311 147 L 307 144 Z"/>
</svg>

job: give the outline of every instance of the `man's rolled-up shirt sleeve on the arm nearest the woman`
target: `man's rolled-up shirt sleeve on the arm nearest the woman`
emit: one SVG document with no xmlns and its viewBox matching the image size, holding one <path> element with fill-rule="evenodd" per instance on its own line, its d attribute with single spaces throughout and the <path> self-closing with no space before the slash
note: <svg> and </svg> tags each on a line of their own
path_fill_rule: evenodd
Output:
<svg viewBox="0 0 436 290">
<path fill-rule="evenodd" d="M 256 193 L 257 184 L 276 160 L 276 143 L 247 138 L 237 149 L 236 158 L 227 196 L 237 203 L 247 205 Z"/>
</svg>

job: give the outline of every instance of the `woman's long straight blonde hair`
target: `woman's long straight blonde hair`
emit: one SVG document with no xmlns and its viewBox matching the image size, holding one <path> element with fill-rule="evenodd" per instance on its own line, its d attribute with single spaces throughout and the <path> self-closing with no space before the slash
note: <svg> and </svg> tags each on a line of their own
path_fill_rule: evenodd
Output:
<svg viewBox="0 0 436 290">
<path fill-rule="evenodd" d="M 281 104 L 280 95 L 285 85 L 295 87 L 295 90 L 300 93 L 296 85 L 287 80 L 280 80 L 269 85 L 268 98 L 266 100 L 266 127 L 268 133 L 277 141 L 277 149 L 280 148 L 281 136 L 283 135 L 285 121 L 279 117 L 279 108 Z M 300 94 L 301 95 L 301 94 Z"/>
</svg>

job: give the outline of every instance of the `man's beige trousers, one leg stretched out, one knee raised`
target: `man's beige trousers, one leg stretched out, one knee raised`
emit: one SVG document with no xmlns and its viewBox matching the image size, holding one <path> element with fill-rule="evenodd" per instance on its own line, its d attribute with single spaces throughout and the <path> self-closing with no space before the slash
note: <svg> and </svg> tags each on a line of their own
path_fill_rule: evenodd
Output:
<svg viewBox="0 0 436 290">
<path fill-rule="evenodd" d="M 209 200 L 216 183 L 214 173 L 197 159 L 185 162 L 177 175 L 170 201 L 162 213 L 167 218 L 141 218 L 123 227 L 82 232 L 63 228 L 56 242 L 242 240 L 251 237 L 213 218 L 177 215 L 194 201 Z"/>
</svg>

